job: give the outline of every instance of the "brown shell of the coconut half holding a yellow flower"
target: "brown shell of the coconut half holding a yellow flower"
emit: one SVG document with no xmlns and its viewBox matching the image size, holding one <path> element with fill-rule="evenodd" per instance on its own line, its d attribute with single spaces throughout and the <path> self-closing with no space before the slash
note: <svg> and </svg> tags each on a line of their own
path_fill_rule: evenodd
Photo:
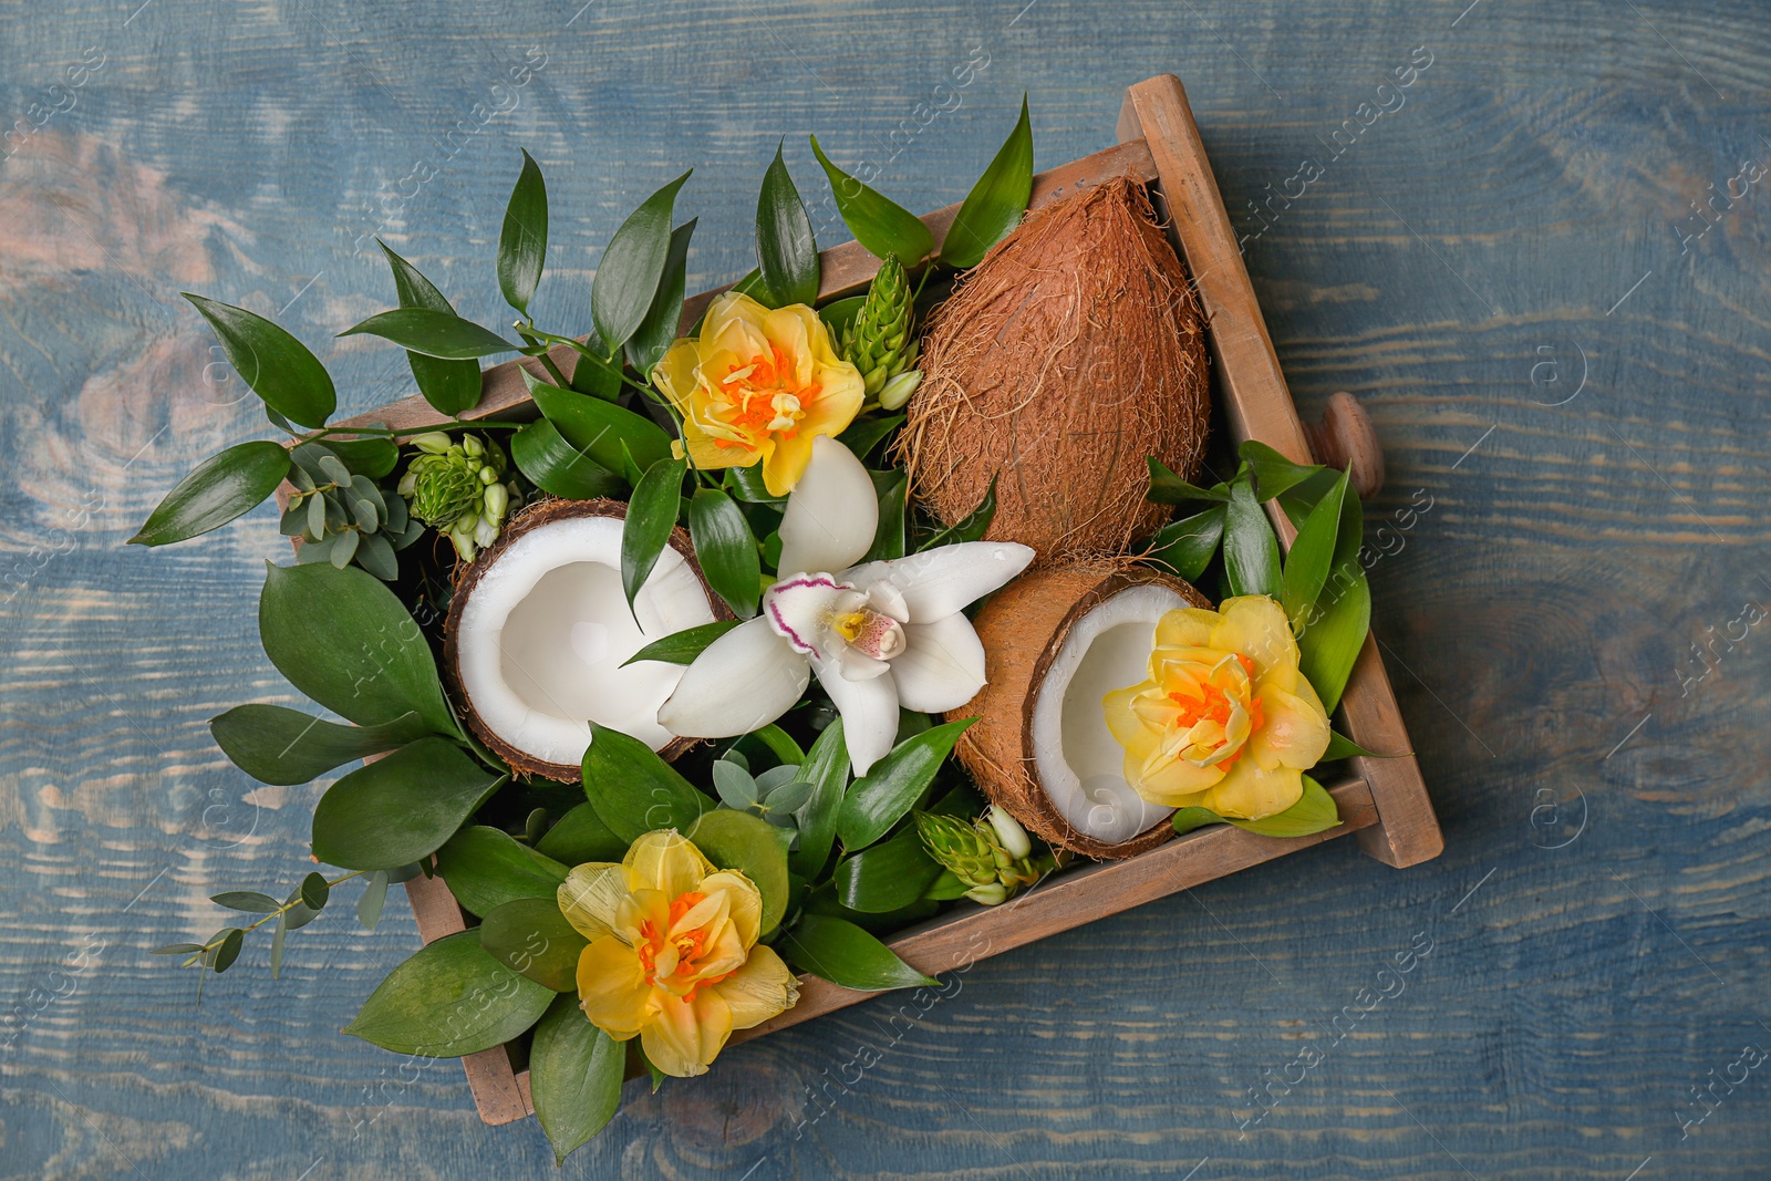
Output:
<svg viewBox="0 0 1771 1181">
<path fill-rule="evenodd" d="M 1103 845 L 1070 827 L 1034 772 L 1032 708 L 1070 629 L 1114 595 L 1162 583 L 1195 607 L 1211 602 L 1190 583 L 1126 560 L 1034 567 L 985 604 L 974 625 L 985 645 L 983 691 L 947 721 L 976 717 L 956 754 L 978 786 L 1031 832 L 1087 857 L 1132 857 L 1174 836 L 1156 823 L 1121 845 Z"/>
</svg>

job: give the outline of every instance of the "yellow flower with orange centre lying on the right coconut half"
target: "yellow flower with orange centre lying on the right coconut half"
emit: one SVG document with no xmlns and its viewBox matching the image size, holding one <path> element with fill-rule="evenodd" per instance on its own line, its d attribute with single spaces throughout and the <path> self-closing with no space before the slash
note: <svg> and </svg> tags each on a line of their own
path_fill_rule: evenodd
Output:
<svg viewBox="0 0 1771 1181">
<path fill-rule="evenodd" d="M 1132 788 L 1165 807 L 1261 820 L 1303 795 L 1328 749 L 1328 714 L 1298 673 L 1286 611 L 1266 595 L 1156 623 L 1149 680 L 1103 699 Z"/>
</svg>

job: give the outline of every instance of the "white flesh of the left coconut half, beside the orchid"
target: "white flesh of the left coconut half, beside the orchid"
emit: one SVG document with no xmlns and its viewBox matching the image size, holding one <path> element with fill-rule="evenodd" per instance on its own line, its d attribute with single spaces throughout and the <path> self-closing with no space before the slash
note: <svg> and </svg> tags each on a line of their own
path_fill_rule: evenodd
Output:
<svg viewBox="0 0 1771 1181">
<path fill-rule="evenodd" d="M 457 625 L 455 671 L 487 729 L 540 761 L 583 761 L 590 722 L 657 751 L 671 740 L 657 712 L 682 666 L 622 662 L 712 621 L 707 590 L 669 545 L 629 611 L 622 521 L 565 517 L 535 526 L 480 574 Z"/>
</svg>

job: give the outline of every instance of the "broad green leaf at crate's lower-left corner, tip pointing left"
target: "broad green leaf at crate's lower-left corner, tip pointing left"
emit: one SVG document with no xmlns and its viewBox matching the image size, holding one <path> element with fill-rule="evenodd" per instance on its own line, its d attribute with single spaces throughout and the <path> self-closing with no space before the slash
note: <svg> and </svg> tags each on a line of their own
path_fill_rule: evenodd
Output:
<svg viewBox="0 0 1771 1181">
<path fill-rule="evenodd" d="M 478 931 L 457 931 L 393 969 L 344 1032 L 395 1054 L 462 1057 L 528 1030 L 553 1000 L 480 947 Z"/>
</svg>

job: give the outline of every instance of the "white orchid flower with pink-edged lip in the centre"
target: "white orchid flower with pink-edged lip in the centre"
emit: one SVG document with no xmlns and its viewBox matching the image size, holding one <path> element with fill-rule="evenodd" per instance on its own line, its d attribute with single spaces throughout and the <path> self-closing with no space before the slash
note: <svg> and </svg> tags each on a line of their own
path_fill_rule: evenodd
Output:
<svg viewBox="0 0 1771 1181">
<path fill-rule="evenodd" d="M 864 776 L 893 747 L 898 706 L 939 714 L 978 696 L 985 646 L 960 611 L 1025 570 L 1032 551 L 962 542 L 854 565 L 877 528 L 866 467 L 820 436 L 786 498 L 781 579 L 763 591 L 762 614 L 694 659 L 659 724 L 687 738 L 747 735 L 793 708 L 816 673 Z"/>
</svg>

